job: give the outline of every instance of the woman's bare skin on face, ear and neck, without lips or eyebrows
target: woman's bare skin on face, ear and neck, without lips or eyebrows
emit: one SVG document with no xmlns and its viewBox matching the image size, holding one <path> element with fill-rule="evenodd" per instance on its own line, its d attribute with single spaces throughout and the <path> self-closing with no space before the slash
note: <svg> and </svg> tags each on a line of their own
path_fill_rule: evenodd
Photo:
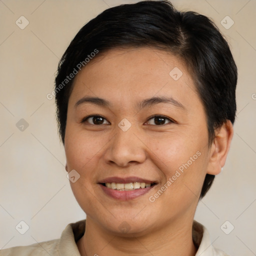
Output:
<svg viewBox="0 0 256 256">
<path fill-rule="evenodd" d="M 169 72 L 178 67 L 176 81 Z M 108 107 L 75 103 L 97 96 Z M 142 109 L 137 102 L 153 96 L 172 97 L 183 108 L 157 103 Z M 101 115 L 93 124 L 88 115 Z M 153 115 L 164 115 L 158 124 Z M 118 123 L 131 126 L 123 131 Z M 95 123 L 95 122 L 94 122 Z M 64 147 L 66 170 L 80 178 L 71 189 L 86 213 L 85 234 L 77 241 L 83 255 L 195 255 L 192 221 L 206 173 L 218 174 L 233 135 L 227 121 L 208 145 L 206 115 L 185 64 L 152 48 L 112 49 L 92 59 L 75 77 L 68 101 Z M 154 195 L 197 151 L 201 154 L 184 169 L 154 202 Z M 131 200 L 106 195 L 98 181 L 138 176 L 157 181 L 149 192 Z M 119 228 L 126 221 L 128 231 Z"/>
</svg>

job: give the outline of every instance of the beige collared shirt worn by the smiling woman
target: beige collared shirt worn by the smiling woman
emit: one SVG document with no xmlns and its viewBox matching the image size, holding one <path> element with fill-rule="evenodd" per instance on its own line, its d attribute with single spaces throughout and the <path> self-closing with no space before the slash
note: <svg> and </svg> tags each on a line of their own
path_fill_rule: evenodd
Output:
<svg viewBox="0 0 256 256">
<path fill-rule="evenodd" d="M 83 219 L 69 223 L 59 239 L 1 249 L 0 256 L 80 256 L 76 241 L 83 236 L 84 231 L 85 220 Z M 228 256 L 211 245 L 207 229 L 195 220 L 193 221 L 192 238 L 198 247 L 195 256 Z"/>
</svg>

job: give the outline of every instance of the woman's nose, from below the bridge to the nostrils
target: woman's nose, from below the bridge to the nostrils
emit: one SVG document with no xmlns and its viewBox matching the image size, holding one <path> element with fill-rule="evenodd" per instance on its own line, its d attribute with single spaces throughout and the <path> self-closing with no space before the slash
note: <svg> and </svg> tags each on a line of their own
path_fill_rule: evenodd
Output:
<svg viewBox="0 0 256 256">
<path fill-rule="evenodd" d="M 117 126 L 105 151 L 105 161 L 120 167 L 142 163 L 146 159 L 146 146 L 141 138 L 132 128 L 123 131 Z"/>
</svg>

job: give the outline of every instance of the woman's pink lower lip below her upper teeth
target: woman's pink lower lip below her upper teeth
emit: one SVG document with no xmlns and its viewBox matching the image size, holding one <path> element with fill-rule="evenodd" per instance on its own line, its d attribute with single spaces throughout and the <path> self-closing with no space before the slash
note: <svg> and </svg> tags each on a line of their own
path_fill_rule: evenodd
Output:
<svg viewBox="0 0 256 256">
<path fill-rule="evenodd" d="M 145 193 L 147 193 L 154 185 L 148 186 L 145 188 L 137 188 L 134 190 L 117 190 L 117 189 L 112 189 L 108 188 L 102 184 L 99 184 L 102 190 L 110 197 L 118 200 L 130 200 L 137 198 L 138 196 L 141 196 Z"/>
</svg>

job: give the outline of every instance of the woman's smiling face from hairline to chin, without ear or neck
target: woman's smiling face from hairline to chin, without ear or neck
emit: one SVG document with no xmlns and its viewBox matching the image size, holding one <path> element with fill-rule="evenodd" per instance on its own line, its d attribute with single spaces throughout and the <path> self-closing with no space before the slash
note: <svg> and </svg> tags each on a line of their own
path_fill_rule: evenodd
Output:
<svg viewBox="0 0 256 256">
<path fill-rule="evenodd" d="M 80 175 L 74 196 L 100 228 L 141 234 L 193 218 L 207 123 L 176 56 L 136 48 L 92 59 L 75 77 L 64 141 L 66 168 Z"/>
</svg>

